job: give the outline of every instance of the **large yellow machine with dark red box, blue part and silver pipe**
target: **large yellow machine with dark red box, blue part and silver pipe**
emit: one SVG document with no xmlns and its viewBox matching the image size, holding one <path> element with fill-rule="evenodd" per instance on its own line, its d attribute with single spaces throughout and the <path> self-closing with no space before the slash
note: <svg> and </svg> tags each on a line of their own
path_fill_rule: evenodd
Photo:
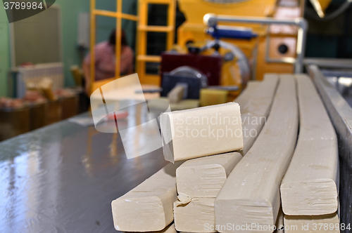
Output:
<svg viewBox="0 0 352 233">
<path fill-rule="evenodd" d="M 177 45 L 161 55 L 161 86 L 172 70 L 187 66 L 199 72 L 194 75 L 206 76 L 209 86 L 238 86 L 238 91 L 228 93 L 228 101 L 241 93 L 247 81 L 262 80 L 265 73 L 302 71 L 304 1 L 178 3 L 186 21 L 178 28 Z"/>
</svg>

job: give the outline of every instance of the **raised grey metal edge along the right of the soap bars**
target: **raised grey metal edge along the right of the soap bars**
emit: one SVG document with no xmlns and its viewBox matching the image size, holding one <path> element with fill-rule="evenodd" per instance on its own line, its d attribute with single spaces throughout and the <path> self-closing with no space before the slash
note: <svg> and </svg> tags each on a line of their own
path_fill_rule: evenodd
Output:
<svg viewBox="0 0 352 233">
<path fill-rule="evenodd" d="M 316 65 L 308 66 L 308 72 L 315 81 L 320 96 L 334 124 L 339 140 L 340 159 L 340 222 L 352 225 L 352 108 L 332 87 Z M 341 232 L 352 232 L 345 229 Z"/>
</svg>

